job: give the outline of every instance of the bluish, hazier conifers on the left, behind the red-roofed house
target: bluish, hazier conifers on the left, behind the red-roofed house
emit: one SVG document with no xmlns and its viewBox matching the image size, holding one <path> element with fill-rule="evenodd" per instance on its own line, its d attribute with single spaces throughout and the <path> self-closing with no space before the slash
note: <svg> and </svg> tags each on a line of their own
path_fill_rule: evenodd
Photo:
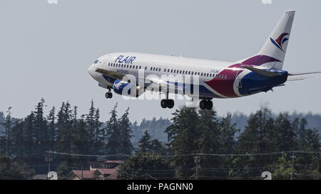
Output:
<svg viewBox="0 0 321 194">
<path fill-rule="evenodd" d="M 47 116 L 44 115 L 44 107 L 45 101 L 41 99 L 34 111 L 18 120 L 12 119 L 9 107 L 6 118 L 1 123 L 4 135 L 0 136 L 0 178 L 6 178 L 13 172 L 8 166 L 29 166 L 24 171 L 47 173 L 47 163 L 50 160 L 51 170 L 66 175 L 81 166 L 87 168 L 88 161 L 97 159 L 54 155 L 48 151 L 81 155 L 132 153 L 129 109 L 118 117 L 116 104 L 111 110 L 111 118 L 103 125 L 99 109 L 94 107 L 93 101 L 88 114 L 80 117 L 78 107 L 73 107 L 69 102 L 62 102 L 59 109 L 52 107 Z M 22 172 L 21 169 L 16 171 Z M 25 176 L 26 173 L 21 173 L 12 177 Z"/>
</svg>

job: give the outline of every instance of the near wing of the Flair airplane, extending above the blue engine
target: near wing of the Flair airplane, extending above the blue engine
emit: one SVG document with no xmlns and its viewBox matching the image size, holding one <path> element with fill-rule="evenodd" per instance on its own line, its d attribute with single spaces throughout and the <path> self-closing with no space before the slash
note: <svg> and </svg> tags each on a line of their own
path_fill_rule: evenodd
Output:
<svg viewBox="0 0 321 194">
<path fill-rule="evenodd" d="M 123 74 L 121 72 L 114 72 L 111 70 L 105 70 L 105 69 L 101 69 L 101 68 L 97 68 L 96 72 L 99 72 L 103 75 L 107 75 L 109 77 L 113 77 L 114 79 L 117 79 L 117 80 L 123 80 L 123 77 L 125 76 L 125 74 Z M 181 92 L 181 94 L 183 94 L 183 87 L 180 87 L 178 85 L 170 83 L 167 80 L 161 80 L 161 79 L 146 80 L 146 77 L 138 77 L 138 79 L 137 79 L 137 77 L 133 77 L 133 78 L 135 78 L 137 81 L 138 80 L 142 81 L 143 83 L 147 82 L 148 85 L 145 85 L 145 89 L 148 86 L 151 86 L 153 88 L 161 87 L 163 91 L 172 90 L 172 91 L 178 91 L 179 93 Z"/>
</svg>

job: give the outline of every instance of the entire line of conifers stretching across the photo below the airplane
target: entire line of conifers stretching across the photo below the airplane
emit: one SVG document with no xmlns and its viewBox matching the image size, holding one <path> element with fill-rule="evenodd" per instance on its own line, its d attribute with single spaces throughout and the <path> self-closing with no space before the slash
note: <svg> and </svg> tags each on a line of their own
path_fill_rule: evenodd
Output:
<svg viewBox="0 0 321 194">
<path fill-rule="evenodd" d="M 52 107 L 49 115 L 44 115 L 45 106 L 41 99 L 24 119 L 13 119 L 9 107 L 1 123 L 0 178 L 47 173 L 49 161 L 51 171 L 63 178 L 97 159 L 46 153 L 56 151 L 116 155 L 108 159 L 123 160 L 118 171 L 121 179 L 260 179 L 263 171 L 279 179 L 321 179 L 320 134 L 307 128 L 305 119 L 290 119 L 287 113 L 274 117 L 262 108 L 251 114 L 240 132 L 231 114 L 218 117 L 213 110 L 182 108 L 173 113 L 169 125 L 164 122 L 168 126 L 165 144 L 153 139 L 153 130 L 148 129 L 153 126 L 148 126 L 136 137 L 138 148 L 134 148 L 131 140 L 138 125 L 129 121 L 129 109 L 119 116 L 116 104 L 109 119 L 101 122 L 93 102 L 88 114 L 81 116 L 69 102 Z"/>
</svg>

